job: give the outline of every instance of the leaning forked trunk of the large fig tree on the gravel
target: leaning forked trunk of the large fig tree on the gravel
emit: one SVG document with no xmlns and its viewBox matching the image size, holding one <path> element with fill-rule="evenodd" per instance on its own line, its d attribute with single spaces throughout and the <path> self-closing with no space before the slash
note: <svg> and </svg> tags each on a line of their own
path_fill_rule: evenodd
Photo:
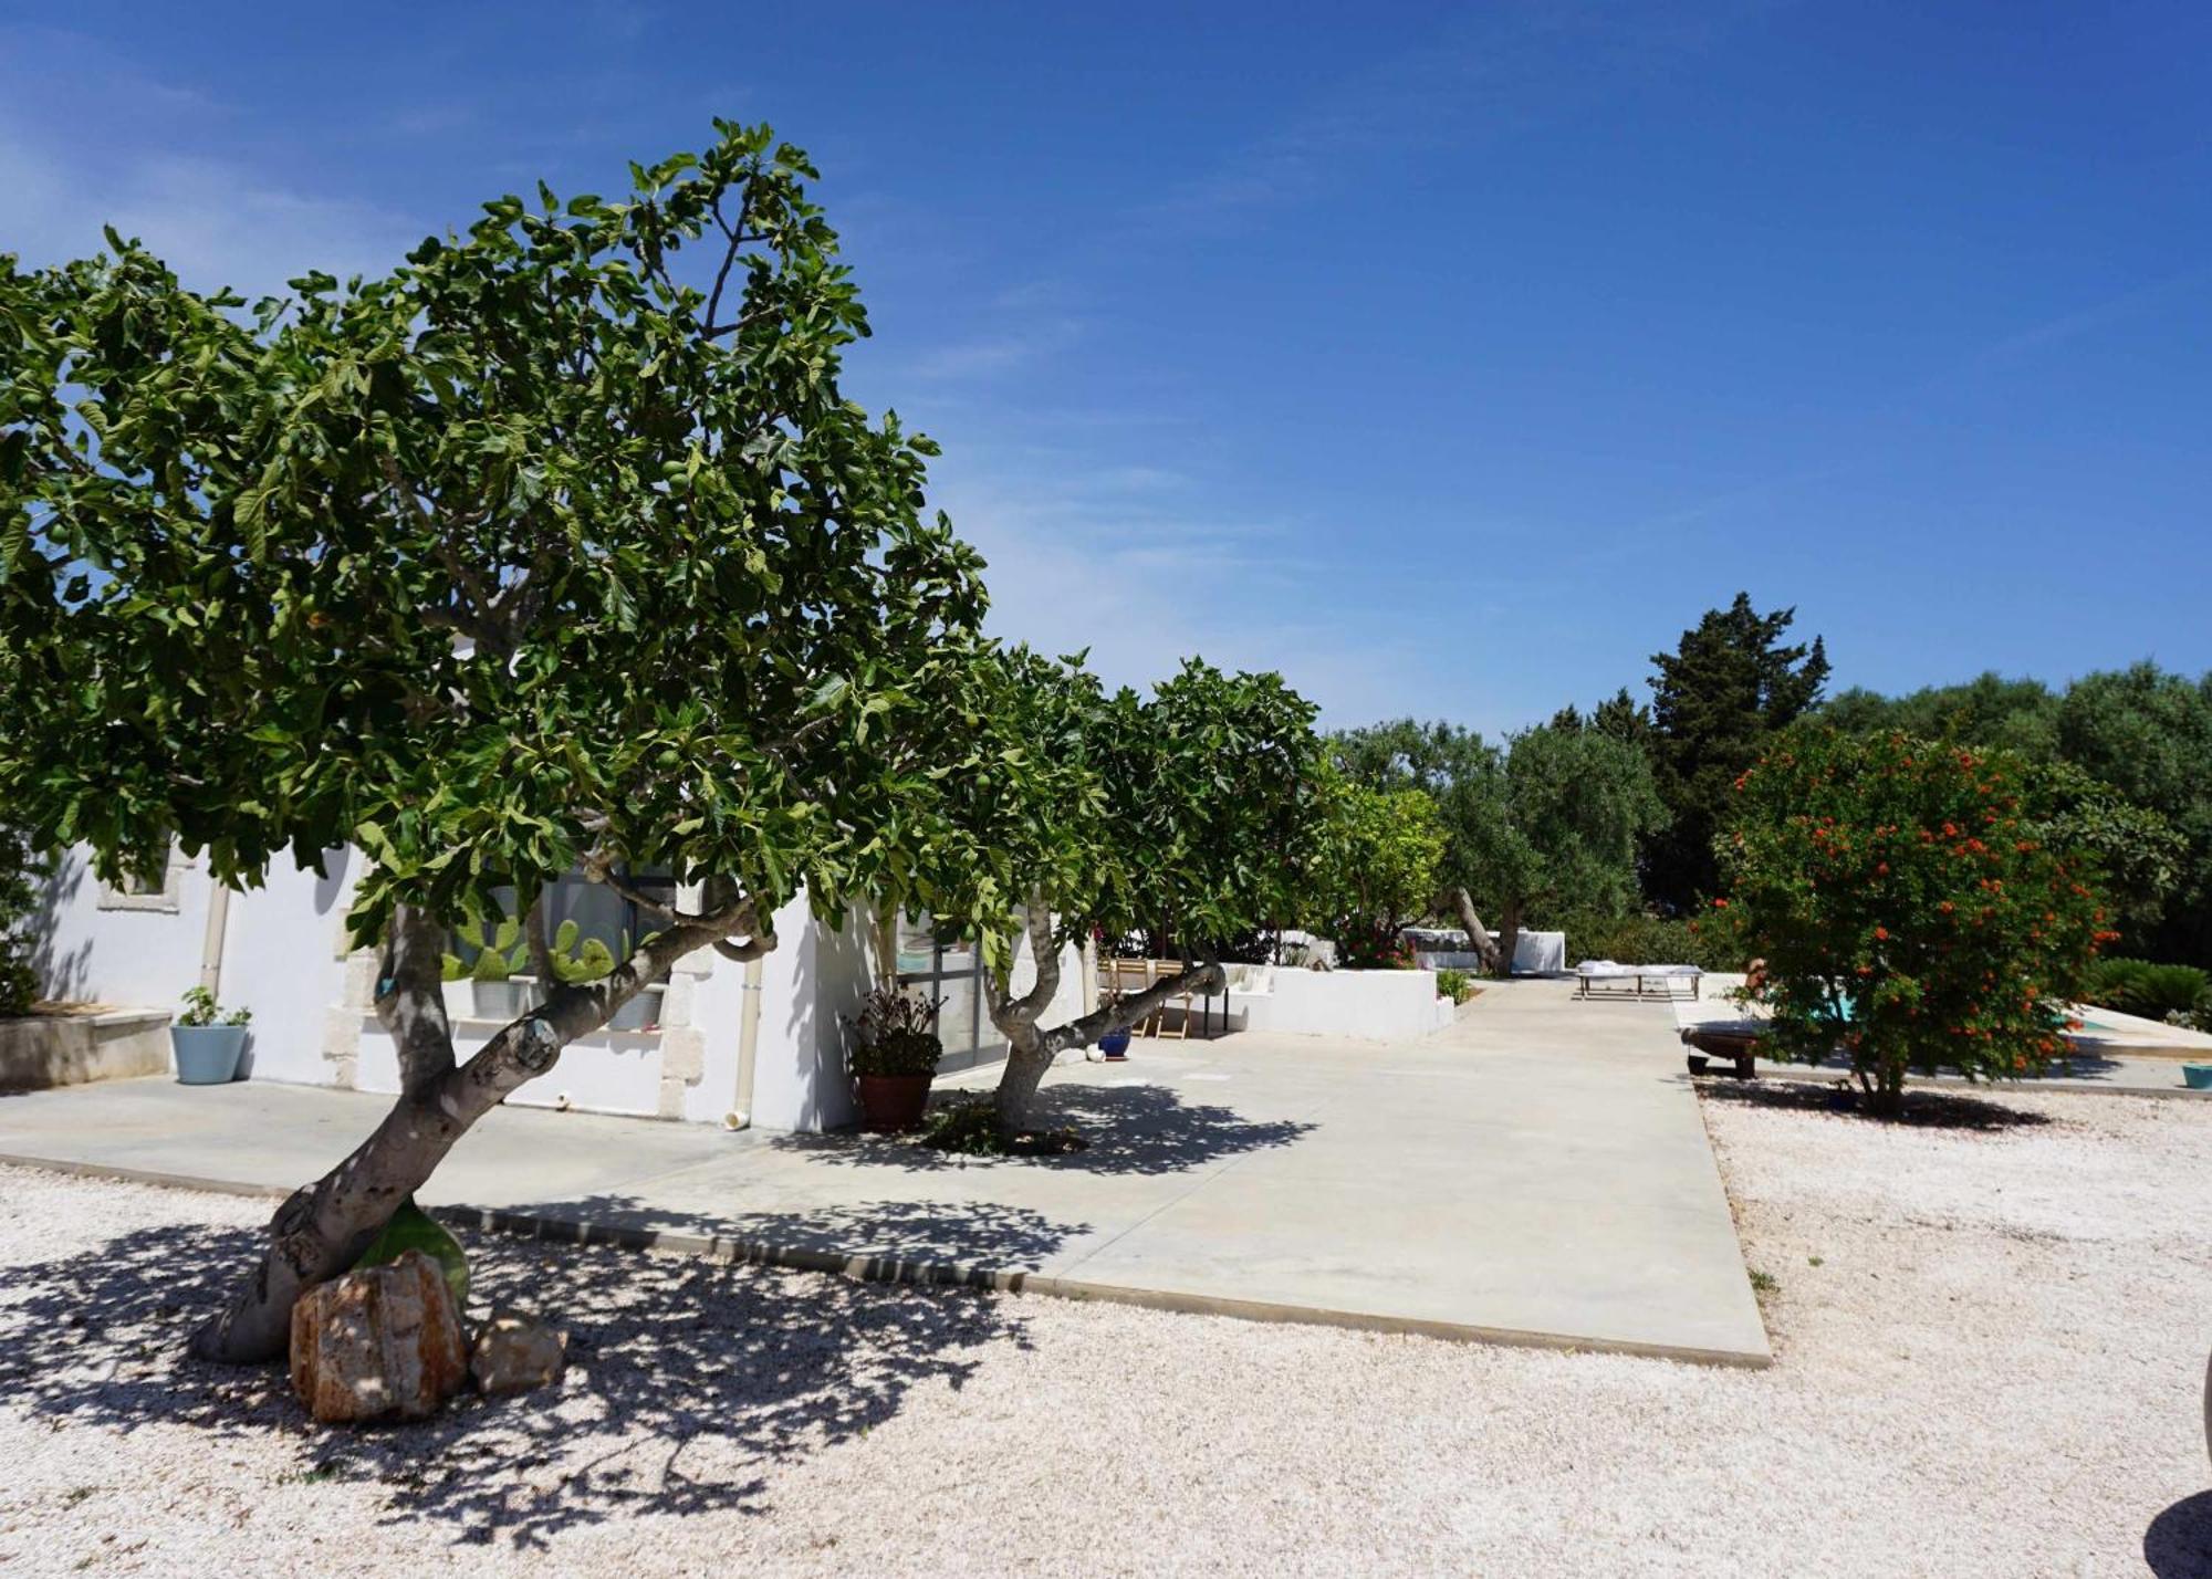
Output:
<svg viewBox="0 0 2212 1579">
<path fill-rule="evenodd" d="M 723 942 L 732 931 L 750 929 L 748 907 L 677 920 L 611 975 L 553 989 L 544 1006 L 504 1026 L 467 1064 L 456 1064 L 438 969 L 445 927 L 400 907 L 376 984 L 378 1017 L 398 1048 L 400 1097 L 345 1161 L 276 1207 L 259 1265 L 230 1303 L 192 1334 L 192 1353 L 226 1364 L 281 1358 L 294 1300 L 352 1267 L 400 1201 L 429 1181 L 478 1119 L 553 1068 L 564 1046 L 604 1026 L 686 953 L 717 944 L 745 958 L 774 947 L 765 929 L 745 944 Z"/>
</svg>

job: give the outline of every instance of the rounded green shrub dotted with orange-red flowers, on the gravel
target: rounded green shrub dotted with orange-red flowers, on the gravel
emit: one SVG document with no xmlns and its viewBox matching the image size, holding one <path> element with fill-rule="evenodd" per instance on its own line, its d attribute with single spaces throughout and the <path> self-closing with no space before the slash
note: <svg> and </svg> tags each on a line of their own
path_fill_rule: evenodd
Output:
<svg viewBox="0 0 2212 1579">
<path fill-rule="evenodd" d="M 1736 781 L 1721 927 L 1767 969 L 1763 1050 L 1843 1050 L 1867 1108 L 1907 1070 L 2017 1079 L 2064 1053 L 2106 927 L 2095 862 L 2055 849 L 2017 756 L 1801 730 Z"/>
</svg>

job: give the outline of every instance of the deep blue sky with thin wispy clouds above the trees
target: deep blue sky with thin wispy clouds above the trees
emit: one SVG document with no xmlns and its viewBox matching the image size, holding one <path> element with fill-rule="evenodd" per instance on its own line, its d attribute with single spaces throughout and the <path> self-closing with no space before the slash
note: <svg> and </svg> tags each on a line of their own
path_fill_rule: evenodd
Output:
<svg viewBox="0 0 2212 1579">
<path fill-rule="evenodd" d="M 2212 9 L 106 4 L 0 248 L 380 268 L 770 119 L 1000 630 L 1502 730 L 1739 586 L 1836 683 L 2212 666 Z"/>
</svg>

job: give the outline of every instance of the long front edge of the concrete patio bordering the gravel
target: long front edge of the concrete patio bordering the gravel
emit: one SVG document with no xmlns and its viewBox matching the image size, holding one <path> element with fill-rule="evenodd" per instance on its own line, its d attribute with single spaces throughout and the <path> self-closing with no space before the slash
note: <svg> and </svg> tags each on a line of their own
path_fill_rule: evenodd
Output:
<svg viewBox="0 0 2212 1579">
<path fill-rule="evenodd" d="M 232 1194 L 263 1201 L 281 1201 L 290 1190 L 270 1185 L 237 1183 L 230 1179 L 201 1179 L 197 1174 L 173 1174 L 155 1168 L 119 1168 L 108 1163 L 58 1161 L 49 1157 L 22 1157 L 0 1152 L 0 1163 L 13 1168 L 44 1168 L 49 1172 L 77 1174 L 84 1179 L 122 1179 L 126 1183 L 164 1185 L 170 1190 L 201 1190 L 208 1194 Z M 743 1263 L 763 1267 L 792 1267 L 796 1272 L 830 1272 L 863 1283 L 905 1283 L 916 1287 L 962 1287 L 998 1294 L 1046 1294 L 1068 1300 L 1102 1300 L 1110 1305 L 1137 1305 L 1144 1309 L 1179 1311 L 1186 1316 L 1234 1316 L 1239 1320 L 1292 1322 L 1307 1327 L 1345 1327 L 1352 1331 L 1389 1331 L 1416 1338 L 1442 1338 L 1449 1342 L 1498 1342 L 1520 1349 L 1557 1349 L 1562 1353 L 1628 1353 L 1650 1360 L 1681 1360 L 1688 1364 L 1725 1364 L 1763 1371 L 1774 1364 L 1774 1356 L 1752 1349 L 1699 1349 L 1663 1342 L 1624 1342 L 1610 1338 L 1575 1338 L 1568 1334 L 1520 1331 L 1511 1327 L 1478 1327 L 1469 1322 L 1425 1320 L 1416 1316 L 1376 1316 L 1369 1311 L 1343 1311 L 1314 1305 L 1283 1305 L 1274 1300 L 1237 1300 L 1212 1294 L 1177 1294 L 1172 1289 L 1139 1289 L 1119 1283 L 1086 1283 L 1082 1278 L 1053 1278 L 1035 1272 L 1002 1272 L 953 1261 L 898 1261 L 891 1256 L 841 1256 L 834 1249 L 810 1249 L 801 1245 L 776 1245 L 750 1236 L 723 1234 L 679 1234 L 653 1227 L 622 1227 L 613 1223 L 591 1223 L 575 1216 L 540 1212 L 493 1210 L 473 1205 L 434 1207 L 431 1216 L 480 1232 L 513 1234 L 518 1238 L 546 1238 L 566 1245 L 615 1245 L 617 1249 L 659 1249 L 699 1261 Z"/>
</svg>

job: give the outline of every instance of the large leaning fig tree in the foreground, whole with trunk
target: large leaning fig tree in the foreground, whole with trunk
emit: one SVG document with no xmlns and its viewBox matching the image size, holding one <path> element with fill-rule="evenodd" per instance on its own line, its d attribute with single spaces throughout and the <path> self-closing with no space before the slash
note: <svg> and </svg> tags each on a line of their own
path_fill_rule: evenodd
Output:
<svg viewBox="0 0 2212 1579">
<path fill-rule="evenodd" d="M 113 230 L 0 259 L 0 803 L 106 878 L 369 858 L 403 1092 L 204 1356 L 281 1353 L 471 1123 L 677 958 L 867 889 L 958 761 L 978 560 L 922 517 L 931 447 L 838 391 L 867 318 L 805 155 L 717 133 L 252 305 Z M 447 927 L 575 869 L 659 929 L 458 1059 Z"/>
</svg>

